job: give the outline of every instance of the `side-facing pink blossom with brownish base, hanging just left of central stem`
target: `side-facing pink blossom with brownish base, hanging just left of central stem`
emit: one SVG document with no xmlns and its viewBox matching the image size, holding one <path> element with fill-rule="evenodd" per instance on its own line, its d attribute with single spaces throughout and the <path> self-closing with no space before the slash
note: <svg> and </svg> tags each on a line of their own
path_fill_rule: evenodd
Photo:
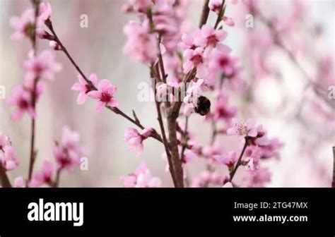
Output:
<svg viewBox="0 0 335 237">
<path fill-rule="evenodd" d="M 129 145 L 129 150 L 137 150 L 136 157 L 143 153 L 143 140 L 146 140 L 154 132 L 153 128 L 146 128 L 139 133 L 136 128 L 128 128 L 127 133 L 124 134 L 124 140 Z"/>
</svg>

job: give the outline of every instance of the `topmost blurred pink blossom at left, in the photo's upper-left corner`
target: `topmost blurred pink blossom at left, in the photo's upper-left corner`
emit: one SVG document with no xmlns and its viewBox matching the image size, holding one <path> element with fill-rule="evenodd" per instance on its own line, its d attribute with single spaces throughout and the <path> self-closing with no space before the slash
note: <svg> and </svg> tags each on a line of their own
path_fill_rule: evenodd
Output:
<svg viewBox="0 0 335 237">
<path fill-rule="evenodd" d="M 11 35 L 13 41 L 23 39 L 23 37 L 33 37 L 35 26 L 34 9 L 26 10 L 20 18 L 13 16 L 10 20 L 10 25 L 15 30 L 13 35 Z M 40 20 L 37 20 L 36 27 L 39 28 L 40 25 Z"/>
</svg>

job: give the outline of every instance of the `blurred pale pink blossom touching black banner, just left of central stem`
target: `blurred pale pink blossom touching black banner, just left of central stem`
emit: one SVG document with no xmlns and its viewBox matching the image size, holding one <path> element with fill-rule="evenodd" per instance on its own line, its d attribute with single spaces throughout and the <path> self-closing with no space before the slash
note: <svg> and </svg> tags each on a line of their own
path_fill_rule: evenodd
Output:
<svg viewBox="0 0 335 237">
<path fill-rule="evenodd" d="M 148 169 L 146 162 L 142 162 L 134 174 L 120 177 L 125 188 L 159 188 L 160 178 L 154 177 Z"/>
</svg>

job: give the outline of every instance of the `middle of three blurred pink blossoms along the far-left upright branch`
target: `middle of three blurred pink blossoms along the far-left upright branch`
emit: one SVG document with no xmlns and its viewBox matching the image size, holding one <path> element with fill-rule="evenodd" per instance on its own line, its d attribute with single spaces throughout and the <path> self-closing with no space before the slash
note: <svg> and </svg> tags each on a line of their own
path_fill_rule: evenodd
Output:
<svg viewBox="0 0 335 237">
<path fill-rule="evenodd" d="M 25 80 L 35 80 L 35 78 L 44 78 L 52 80 L 54 73 L 61 70 L 61 65 L 54 61 L 52 51 L 42 51 L 34 56 L 33 51 L 28 54 L 28 60 L 23 63 L 23 67 L 27 70 Z"/>
</svg>

